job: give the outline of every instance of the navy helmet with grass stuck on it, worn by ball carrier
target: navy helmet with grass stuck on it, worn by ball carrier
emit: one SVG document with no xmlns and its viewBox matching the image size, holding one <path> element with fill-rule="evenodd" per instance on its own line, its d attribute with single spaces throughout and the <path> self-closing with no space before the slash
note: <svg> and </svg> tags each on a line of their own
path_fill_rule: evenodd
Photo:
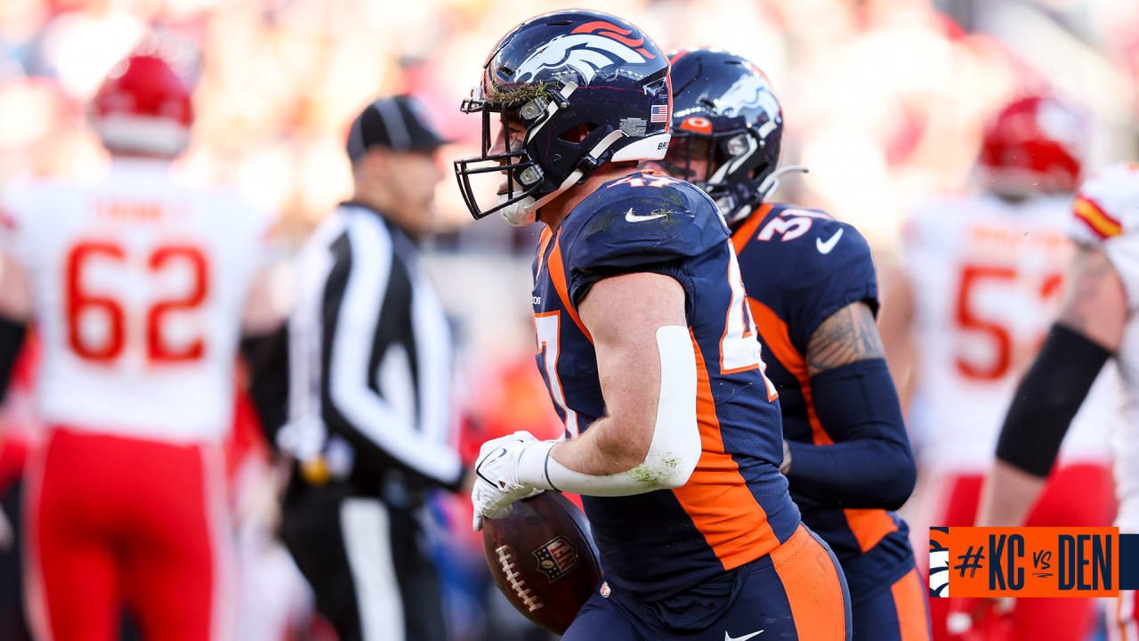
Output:
<svg viewBox="0 0 1139 641">
<path fill-rule="evenodd" d="M 525 225 L 605 162 L 663 159 L 670 98 L 669 59 L 628 22 L 580 9 L 530 18 L 494 46 L 460 107 L 483 116 L 482 154 L 454 162 L 467 208 Z M 513 148 L 491 153 L 492 114 L 503 130 L 525 127 Z M 470 178 L 491 172 L 506 175 L 505 193 L 484 208 Z"/>
</svg>

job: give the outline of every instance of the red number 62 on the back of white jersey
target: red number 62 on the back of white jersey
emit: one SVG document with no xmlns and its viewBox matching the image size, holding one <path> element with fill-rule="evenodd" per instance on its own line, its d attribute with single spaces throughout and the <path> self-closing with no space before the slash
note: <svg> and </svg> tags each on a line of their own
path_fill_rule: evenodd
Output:
<svg viewBox="0 0 1139 641">
<path fill-rule="evenodd" d="M 82 242 L 67 252 L 64 270 L 67 343 L 84 360 L 109 363 L 122 355 L 126 346 L 126 313 L 121 300 L 105 293 L 84 289 L 83 274 L 97 269 L 98 263 L 126 263 L 126 252 L 109 242 Z M 170 244 L 155 248 L 146 259 L 147 274 L 162 279 L 166 270 L 183 263 L 190 271 L 190 286 L 180 295 L 155 301 L 141 318 L 145 330 L 146 357 L 153 364 L 173 364 L 198 360 L 205 352 L 200 336 L 174 347 L 167 343 L 163 324 L 171 313 L 190 311 L 199 307 L 208 293 L 208 274 L 205 255 L 192 245 Z M 100 315 L 106 327 L 103 340 L 96 341 L 82 331 L 91 323 L 92 315 Z"/>
</svg>

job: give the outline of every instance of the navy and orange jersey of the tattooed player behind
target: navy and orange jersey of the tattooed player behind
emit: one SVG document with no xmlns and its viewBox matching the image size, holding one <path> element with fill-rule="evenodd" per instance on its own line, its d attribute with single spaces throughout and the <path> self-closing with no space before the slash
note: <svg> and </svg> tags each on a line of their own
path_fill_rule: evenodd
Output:
<svg viewBox="0 0 1139 641">
<path fill-rule="evenodd" d="M 784 437 L 828 445 L 811 398 L 806 346 L 819 325 L 852 302 L 877 314 L 870 248 L 854 227 L 819 210 L 782 203 L 760 206 L 732 234 L 748 303 L 760 331 L 768 378 L 779 390 Z M 886 510 L 844 510 L 792 496 L 803 522 L 834 550 L 858 600 L 888 586 L 913 565 L 906 524 Z"/>
</svg>

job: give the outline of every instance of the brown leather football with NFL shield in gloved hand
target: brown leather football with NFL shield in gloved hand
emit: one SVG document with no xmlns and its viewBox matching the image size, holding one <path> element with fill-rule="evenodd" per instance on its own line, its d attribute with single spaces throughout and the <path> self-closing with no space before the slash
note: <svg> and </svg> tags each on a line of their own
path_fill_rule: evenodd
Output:
<svg viewBox="0 0 1139 641">
<path fill-rule="evenodd" d="M 483 520 L 483 550 L 494 583 L 535 624 L 563 634 L 601 582 L 585 514 L 559 492 L 514 504 Z"/>
</svg>

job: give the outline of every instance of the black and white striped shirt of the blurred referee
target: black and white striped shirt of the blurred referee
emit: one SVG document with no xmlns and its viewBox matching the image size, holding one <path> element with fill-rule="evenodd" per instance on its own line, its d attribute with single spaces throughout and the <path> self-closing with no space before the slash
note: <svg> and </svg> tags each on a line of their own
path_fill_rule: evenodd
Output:
<svg viewBox="0 0 1139 641">
<path fill-rule="evenodd" d="M 278 443 L 337 477 L 391 469 L 456 487 L 453 347 L 415 244 L 342 204 L 301 251 L 289 320 L 289 424 Z"/>
</svg>

